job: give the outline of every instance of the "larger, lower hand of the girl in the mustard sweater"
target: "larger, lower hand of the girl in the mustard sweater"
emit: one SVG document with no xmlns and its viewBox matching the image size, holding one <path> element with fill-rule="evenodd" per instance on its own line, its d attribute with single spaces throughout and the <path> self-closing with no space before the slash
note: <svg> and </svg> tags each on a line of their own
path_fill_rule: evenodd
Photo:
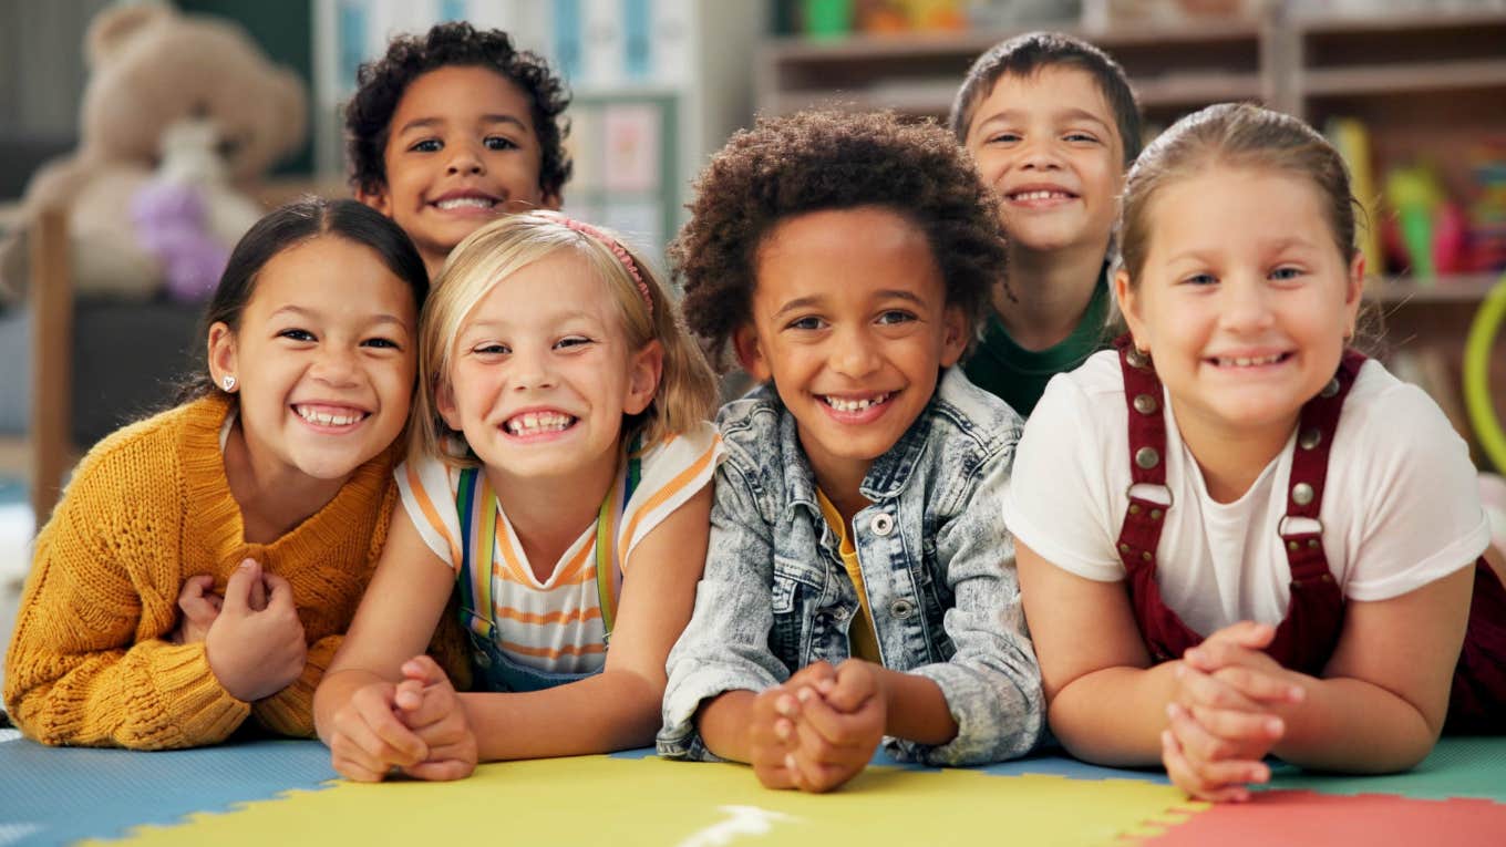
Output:
<svg viewBox="0 0 1506 847">
<path fill-rule="evenodd" d="M 261 610 L 253 604 L 258 595 L 265 595 Z M 205 653 L 209 669 L 235 699 L 258 701 L 297 680 L 309 644 L 288 580 L 264 574 L 255 559 L 241 562 L 224 585 L 224 603 L 205 636 Z"/>
</svg>

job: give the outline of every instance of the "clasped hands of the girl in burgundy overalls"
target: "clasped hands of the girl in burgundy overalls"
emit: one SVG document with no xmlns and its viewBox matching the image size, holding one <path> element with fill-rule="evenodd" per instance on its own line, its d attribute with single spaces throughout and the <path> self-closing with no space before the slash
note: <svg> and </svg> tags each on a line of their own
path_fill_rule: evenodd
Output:
<svg viewBox="0 0 1506 847">
<path fill-rule="evenodd" d="M 1267 782 L 1267 754 L 1286 734 L 1277 707 L 1301 702 L 1297 677 L 1262 653 L 1268 624 L 1239 622 L 1208 636 L 1176 666 L 1161 761 L 1176 787 L 1202 800 L 1245 800 Z"/>
</svg>

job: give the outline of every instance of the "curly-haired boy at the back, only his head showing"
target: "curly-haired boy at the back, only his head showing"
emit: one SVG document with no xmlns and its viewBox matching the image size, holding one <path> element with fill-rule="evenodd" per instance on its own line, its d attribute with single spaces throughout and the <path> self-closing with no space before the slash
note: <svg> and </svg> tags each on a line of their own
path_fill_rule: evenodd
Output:
<svg viewBox="0 0 1506 847">
<path fill-rule="evenodd" d="M 452 21 L 399 35 L 357 81 L 345 110 L 355 196 L 408 232 L 431 279 L 488 220 L 560 206 L 569 90 L 508 33 Z"/>
</svg>

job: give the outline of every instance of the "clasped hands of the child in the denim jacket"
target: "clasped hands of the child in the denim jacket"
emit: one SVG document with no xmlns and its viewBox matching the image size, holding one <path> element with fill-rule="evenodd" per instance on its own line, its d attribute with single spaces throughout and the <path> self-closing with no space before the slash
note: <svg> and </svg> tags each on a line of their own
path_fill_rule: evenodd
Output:
<svg viewBox="0 0 1506 847">
<path fill-rule="evenodd" d="M 753 701 L 748 749 L 768 788 L 830 791 L 857 776 L 884 737 L 886 701 L 875 666 L 818 662 Z"/>
</svg>

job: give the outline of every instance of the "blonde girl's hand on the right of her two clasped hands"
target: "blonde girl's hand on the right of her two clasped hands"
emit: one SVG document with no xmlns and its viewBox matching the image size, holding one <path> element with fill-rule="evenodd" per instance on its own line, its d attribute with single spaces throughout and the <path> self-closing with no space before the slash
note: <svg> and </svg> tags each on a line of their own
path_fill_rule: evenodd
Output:
<svg viewBox="0 0 1506 847">
<path fill-rule="evenodd" d="M 428 656 L 405 662 L 402 675 L 393 695 L 398 719 L 428 748 L 423 761 L 405 766 L 402 772 L 434 781 L 470 776 L 476 770 L 476 732 L 449 677 Z"/>
</svg>

